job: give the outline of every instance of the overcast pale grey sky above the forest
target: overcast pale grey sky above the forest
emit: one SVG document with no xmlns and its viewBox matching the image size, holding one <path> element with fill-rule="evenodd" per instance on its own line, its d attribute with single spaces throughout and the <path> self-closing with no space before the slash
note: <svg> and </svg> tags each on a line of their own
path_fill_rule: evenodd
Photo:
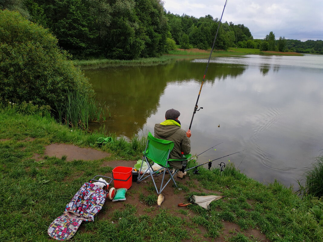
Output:
<svg viewBox="0 0 323 242">
<path fill-rule="evenodd" d="M 221 17 L 225 0 L 163 0 L 173 14 Z M 228 0 L 222 22 L 244 24 L 263 39 L 273 31 L 276 39 L 323 40 L 323 0 Z"/>
</svg>

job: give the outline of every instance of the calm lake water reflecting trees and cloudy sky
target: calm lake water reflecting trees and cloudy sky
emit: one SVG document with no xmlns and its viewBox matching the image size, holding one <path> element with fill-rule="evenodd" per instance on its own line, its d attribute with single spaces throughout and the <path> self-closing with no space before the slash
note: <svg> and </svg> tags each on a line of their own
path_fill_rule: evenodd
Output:
<svg viewBox="0 0 323 242">
<path fill-rule="evenodd" d="M 107 133 L 129 138 L 153 133 L 170 108 L 181 112 L 187 130 L 206 64 L 186 59 L 85 74 L 99 101 L 110 106 Z M 191 153 L 223 142 L 199 156 L 199 163 L 246 149 L 213 166 L 230 160 L 260 182 L 295 186 L 323 151 L 323 55 L 211 58 L 198 106 L 203 109 L 193 119 Z"/>
</svg>

